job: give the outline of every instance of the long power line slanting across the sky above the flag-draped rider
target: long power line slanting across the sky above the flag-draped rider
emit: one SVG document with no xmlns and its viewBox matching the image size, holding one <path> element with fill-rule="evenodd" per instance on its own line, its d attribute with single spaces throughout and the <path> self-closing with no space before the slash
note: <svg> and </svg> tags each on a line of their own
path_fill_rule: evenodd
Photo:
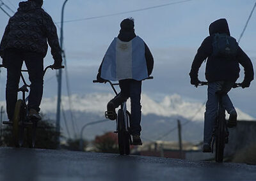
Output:
<svg viewBox="0 0 256 181">
<path fill-rule="evenodd" d="M 124 11 L 124 12 L 120 12 L 120 13 L 112 13 L 112 14 L 109 14 L 109 15 L 101 15 L 101 16 L 88 17 L 88 18 L 80 18 L 80 19 L 75 19 L 75 20 L 67 20 L 67 21 L 64 21 L 64 22 L 65 23 L 79 22 L 79 21 L 83 21 L 83 20 L 92 20 L 92 19 L 97 19 L 97 18 L 113 17 L 115 15 L 123 15 L 123 14 L 127 14 L 127 13 L 138 12 L 138 11 L 151 10 L 151 9 L 155 9 L 155 8 L 161 8 L 161 7 L 164 7 L 164 6 L 170 6 L 170 5 L 173 5 L 173 4 L 186 3 L 188 1 L 193 1 L 193 0 L 177 1 L 177 2 L 174 2 L 174 3 L 161 4 L 161 5 L 158 5 L 158 6 L 150 6 L 148 8 L 141 8 L 141 9 L 138 9 L 138 10 Z M 57 23 L 60 24 L 60 22 L 57 22 Z"/>
</svg>

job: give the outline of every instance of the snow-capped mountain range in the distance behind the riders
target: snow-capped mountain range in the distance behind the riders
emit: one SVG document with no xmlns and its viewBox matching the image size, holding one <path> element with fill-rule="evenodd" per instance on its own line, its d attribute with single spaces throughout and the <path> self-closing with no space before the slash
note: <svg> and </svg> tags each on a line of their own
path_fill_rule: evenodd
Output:
<svg viewBox="0 0 256 181">
<path fill-rule="evenodd" d="M 72 110 L 77 112 L 95 113 L 102 115 L 106 110 L 106 105 L 113 94 L 86 94 L 83 96 L 72 95 Z M 62 97 L 64 110 L 69 110 L 68 97 Z M 143 115 L 154 114 L 161 117 L 184 117 L 195 121 L 204 120 L 205 105 L 198 102 L 184 101 L 178 94 L 165 96 L 160 102 L 149 98 L 146 94 L 141 96 L 141 105 Z M 127 107 L 130 108 L 130 101 L 127 101 Z M 56 112 L 56 98 L 46 98 L 42 100 L 42 112 Z M 255 120 L 250 115 L 236 108 L 239 120 Z"/>
</svg>

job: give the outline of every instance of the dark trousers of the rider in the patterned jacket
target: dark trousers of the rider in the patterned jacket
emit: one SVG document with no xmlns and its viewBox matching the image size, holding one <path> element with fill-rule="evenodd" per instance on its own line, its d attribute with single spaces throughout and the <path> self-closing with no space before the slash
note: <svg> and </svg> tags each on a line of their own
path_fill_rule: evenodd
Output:
<svg viewBox="0 0 256 181">
<path fill-rule="evenodd" d="M 29 80 L 31 82 L 28 109 L 33 108 L 38 112 L 40 111 L 39 106 L 43 96 L 44 84 L 44 56 L 35 52 L 14 48 L 7 49 L 5 54 L 7 66 L 6 110 L 9 120 L 12 120 L 15 110 L 23 61 L 25 61 L 28 68 Z"/>
</svg>

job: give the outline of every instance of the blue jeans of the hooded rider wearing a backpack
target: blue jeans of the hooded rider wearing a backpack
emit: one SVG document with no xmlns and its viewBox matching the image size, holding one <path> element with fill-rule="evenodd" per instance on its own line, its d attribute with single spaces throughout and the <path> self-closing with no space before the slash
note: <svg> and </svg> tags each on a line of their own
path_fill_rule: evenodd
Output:
<svg viewBox="0 0 256 181">
<path fill-rule="evenodd" d="M 217 112 L 218 112 L 218 96 L 216 95 L 217 91 L 222 91 L 228 93 L 234 82 L 210 82 L 208 84 L 207 89 L 207 103 L 205 108 L 205 115 L 204 115 L 204 143 L 211 143 L 212 139 L 212 131 L 216 124 Z M 223 95 L 222 103 L 225 110 L 228 113 L 235 110 L 228 94 Z"/>
</svg>

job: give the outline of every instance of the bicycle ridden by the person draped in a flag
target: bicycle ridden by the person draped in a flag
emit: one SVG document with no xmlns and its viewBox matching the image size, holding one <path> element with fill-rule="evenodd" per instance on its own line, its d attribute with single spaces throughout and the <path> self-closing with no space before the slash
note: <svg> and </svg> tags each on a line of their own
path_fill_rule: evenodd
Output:
<svg viewBox="0 0 256 181">
<path fill-rule="evenodd" d="M 153 76 L 149 76 L 147 79 L 153 79 Z M 119 83 L 112 83 L 111 81 L 107 80 L 106 82 L 111 85 L 113 91 L 117 96 L 117 92 L 115 89 L 115 85 L 119 85 Z M 98 80 L 93 80 L 93 83 L 100 83 Z M 127 111 L 126 101 L 122 103 L 120 109 L 118 110 L 117 117 L 116 117 L 116 131 L 114 133 L 118 134 L 118 150 L 120 155 L 129 155 L 130 145 L 132 145 L 131 133 L 130 133 L 130 120 L 131 120 L 131 113 Z M 105 112 L 106 119 L 109 119 L 109 116 L 113 116 L 113 112 Z"/>
</svg>

